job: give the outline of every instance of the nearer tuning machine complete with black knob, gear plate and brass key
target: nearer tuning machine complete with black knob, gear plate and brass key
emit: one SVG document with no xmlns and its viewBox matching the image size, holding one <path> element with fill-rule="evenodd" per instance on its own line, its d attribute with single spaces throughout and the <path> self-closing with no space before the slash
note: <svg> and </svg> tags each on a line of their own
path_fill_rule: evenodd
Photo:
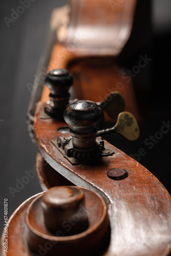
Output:
<svg viewBox="0 0 171 256">
<path fill-rule="evenodd" d="M 139 126 L 131 113 L 120 113 L 115 126 L 98 131 L 101 116 L 101 110 L 93 101 L 76 100 L 67 105 L 64 119 L 71 126 L 71 136 L 58 136 L 57 141 L 52 143 L 73 165 L 114 154 L 104 144 L 100 137 L 102 135 L 114 132 L 128 140 L 136 140 L 139 137 Z"/>
</svg>

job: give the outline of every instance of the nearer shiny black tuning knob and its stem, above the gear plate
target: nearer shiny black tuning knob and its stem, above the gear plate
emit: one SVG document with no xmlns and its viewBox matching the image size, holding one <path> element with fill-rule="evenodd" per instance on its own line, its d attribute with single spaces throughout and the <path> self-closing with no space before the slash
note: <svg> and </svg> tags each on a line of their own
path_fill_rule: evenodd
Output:
<svg viewBox="0 0 171 256">
<path fill-rule="evenodd" d="M 97 104 L 89 100 L 76 100 L 67 105 L 64 112 L 66 123 L 72 125 L 73 146 L 87 148 L 96 143 L 98 132 L 95 126 L 101 120 L 101 111 Z"/>
</svg>

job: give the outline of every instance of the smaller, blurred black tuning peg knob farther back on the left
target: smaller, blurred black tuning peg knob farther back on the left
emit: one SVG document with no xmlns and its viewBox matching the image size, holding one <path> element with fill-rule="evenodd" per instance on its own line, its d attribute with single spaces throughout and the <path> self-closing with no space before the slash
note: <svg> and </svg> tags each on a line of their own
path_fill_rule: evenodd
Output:
<svg viewBox="0 0 171 256">
<path fill-rule="evenodd" d="M 73 84 L 73 76 L 66 69 L 51 70 L 47 74 L 45 84 L 51 92 L 45 106 L 45 113 L 61 119 L 69 102 L 69 89 Z"/>
</svg>

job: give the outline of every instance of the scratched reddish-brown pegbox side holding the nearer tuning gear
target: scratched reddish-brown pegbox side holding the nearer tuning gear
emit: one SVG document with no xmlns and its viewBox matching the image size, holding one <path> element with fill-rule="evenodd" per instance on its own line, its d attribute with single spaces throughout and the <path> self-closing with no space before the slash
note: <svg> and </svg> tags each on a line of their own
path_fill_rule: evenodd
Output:
<svg viewBox="0 0 171 256">
<path fill-rule="evenodd" d="M 38 103 L 34 121 L 40 153 L 62 176 L 75 185 L 97 191 L 108 204 L 111 239 L 104 255 L 169 255 L 171 200 L 159 180 L 108 142 L 106 145 L 115 152 L 113 156 L 103 157 L 95 164 L 71 165 L 51 143 L 61 135 L 57 129 L 65 123 L 40 119 L 44 106 Z M 110 179 L 107 173 L 112 168 L 126 169 L 128 177 Z"/>
</svg>

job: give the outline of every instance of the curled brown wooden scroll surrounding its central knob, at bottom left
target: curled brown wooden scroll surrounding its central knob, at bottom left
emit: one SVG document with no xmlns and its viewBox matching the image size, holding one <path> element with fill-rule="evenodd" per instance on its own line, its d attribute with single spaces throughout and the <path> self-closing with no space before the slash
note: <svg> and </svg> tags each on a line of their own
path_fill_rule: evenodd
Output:
<svg viewBox="0 0 171 256">
<path fill-rule="evenodd" d="M 74 189 L 76 188 L 74 186 Z M 72 236 L 63 236 L 61 230 L 56 230 L 55 234 L 51 233 L 44 223 L 41 207 L 42 197 L 49 193 L 44 191 L 26 200 L 10 217 L 8 252 L 2 250 L 2 256 L 100 256 L 109 241 L 107 207 L 104 200 L 94 191 L 86 188 L 78 189 L 83 191 L 85 197 L 85 207 L 81 209 L 80 216 L 83 216 L 83 210 L 88 212 L 89 225 L 86 230 Z M 74 216 L 72 220 L 74 221 Z M 3 242 L 2 239 L 2 247 Z"/>
</svg>

